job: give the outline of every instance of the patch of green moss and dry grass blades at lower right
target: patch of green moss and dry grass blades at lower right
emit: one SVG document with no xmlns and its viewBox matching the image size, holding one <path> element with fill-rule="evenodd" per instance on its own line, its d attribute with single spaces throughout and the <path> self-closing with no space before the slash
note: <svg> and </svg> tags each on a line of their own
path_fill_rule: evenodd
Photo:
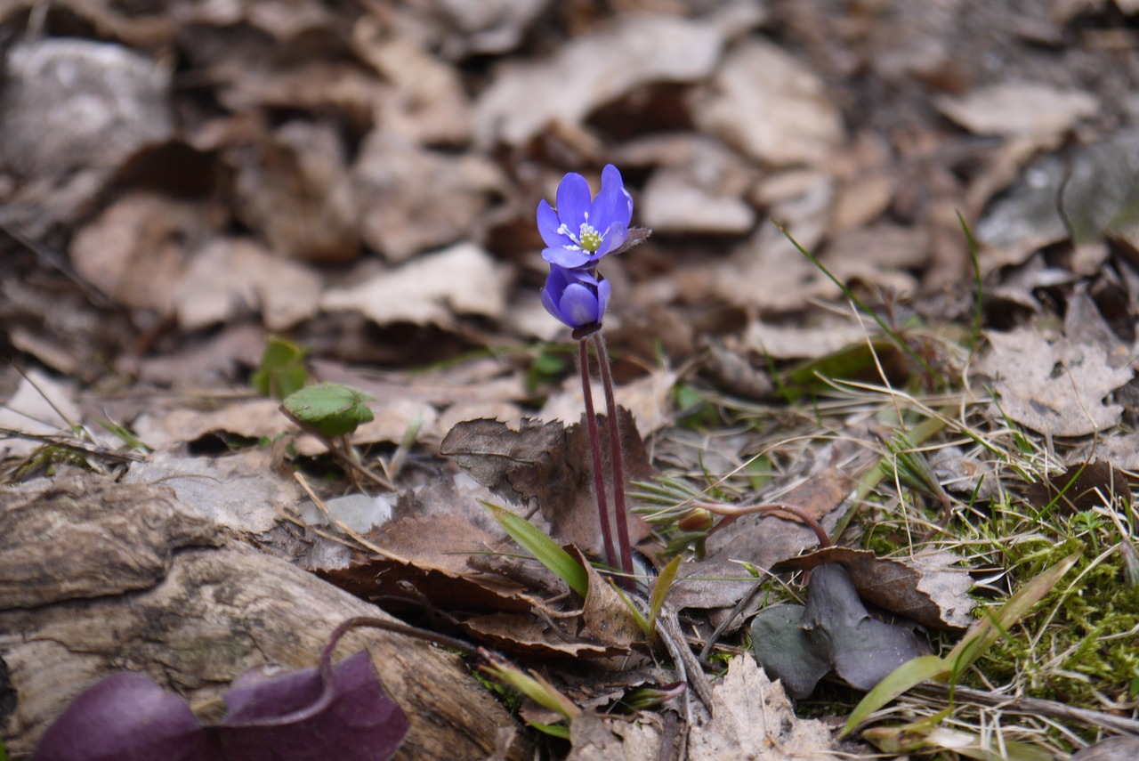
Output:
<svg viewBox="0 0 1139 761">
<path fill-rule="evenodd" d="M 1024 743 L 1047 753 L 1072 752 L 1111 727 L 1098 723 L 1097 715 L 1136 717 L 1139 709 L 1139 579 L 1131 579 L 1139 575 L 1133 551 L 1139 518 L 1130 505 L 1073 513 L 1063 500 L 1036 496 L 1034 484 L 1087 459 L 1085 450 L 1080 442 L 1065 448 L 1021 429 L 992 403 L 988 390 L 970 388 L 964 376 L 953 375 L 959 369 L 950 368 L 962 367 L 957 360 L 974 349 L 976 326 L 972 336 L 959 329 L 921 330 L 924 344 L 910 341 L 911 349 L 940 345 L 954 361 L 934 365 L 911 355 L 916 375 L 910 383 L 891 383 L 885 373 L 878 383 L 823 376 L 819 369 L 828 363 L 817 360 L 810 393 L 788 396 L 784 404 L 703 392 L 716 417 L 747 431 L 740 451 L 749 456 L 727 472 L 700 467 L 685 475 L 697 483 L 696 492 L 715 489 L 741 501 L 776 500 L 780 483 L 805 474 L 825 456 L 859 482 L 853 509 L 831 534 L 841 533 L 838 543 L 893 557 L 953 551 L 973 568 L 978 617 L 1085 548 L 1060 582 L 958 676 L 959 694 L 918 689 L 884 710 L 910 721 L 924 717 L 931 727 L 950 734 Z M 902 332 L 888 335 L 907 342 Z M 866 345 L 872 358 L 876 344 L 869 336 Z M 945 375 L 931 383 L 925 376 L 932 371 Z M 948 492 L 929 483 L 928 460 L 945 448 L 959 450 L 982 475 L 972 482 L 962 477 Z M 771 477 L 753 477 L 749 465 L 757 461 Z M 675 496 L 678 501 L 694 501 L 691 494 Z M 773 603 L 790 596 L 782 582 L 769 580 L 760 599 Z M 960 638 L 934 635 L 935 652 L 944 655 Z M 830 686 L 800 707 L 833 715 L 859 697 Z M 1014 697 L 1052 701 L 1073 713 L 1000 707 Z"/>
</svg>

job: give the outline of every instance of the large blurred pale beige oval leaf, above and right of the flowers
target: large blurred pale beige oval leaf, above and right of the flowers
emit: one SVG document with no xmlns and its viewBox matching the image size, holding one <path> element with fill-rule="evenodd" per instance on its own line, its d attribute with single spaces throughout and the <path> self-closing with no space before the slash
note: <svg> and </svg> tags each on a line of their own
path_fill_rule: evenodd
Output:
<svg viewBox="0 0 1139 761">
<path fill-rule="evenodd" d="M 819 164 L 843 140 L 842 116 L 822 81 L 771 42 L 748 39 L 694 93 L 696 125 L 756 161 Z"/>
</svg>

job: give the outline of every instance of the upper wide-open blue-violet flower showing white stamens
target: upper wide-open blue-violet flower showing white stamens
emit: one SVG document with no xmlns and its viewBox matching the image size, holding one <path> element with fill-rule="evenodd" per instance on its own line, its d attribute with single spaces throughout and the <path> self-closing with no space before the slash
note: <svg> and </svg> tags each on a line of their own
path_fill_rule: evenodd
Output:
<svg viewBox="0 0 1139 761">
<path fill-rule="evenodd" d="M 601 171 L 601 190 L 596 198 L 590 198 L 585 178 L 571 172 L 558 185 L 557 202 L 557 211 L 544 199 L 538 204 L 538 231 L 547 246 L 542 259 L 550 264 L 592 268 L 629 237 L 633 198 L 613 164 Z"/>
</svg>

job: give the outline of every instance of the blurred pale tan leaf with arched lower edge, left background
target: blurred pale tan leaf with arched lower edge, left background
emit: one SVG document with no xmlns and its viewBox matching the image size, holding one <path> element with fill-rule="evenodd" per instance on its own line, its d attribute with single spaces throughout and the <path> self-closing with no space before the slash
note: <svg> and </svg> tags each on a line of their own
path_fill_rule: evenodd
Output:
<svg viewBox="0 0 1139 761">
<path fill-rule="evenodd" d="M 285 330 L 317 313 L 320 277 L 274 257 L 246 238 L 215 238 L 194 253 L 172 294 L 187 330 L 260 311 L 265 327 Z"/>
</svg>

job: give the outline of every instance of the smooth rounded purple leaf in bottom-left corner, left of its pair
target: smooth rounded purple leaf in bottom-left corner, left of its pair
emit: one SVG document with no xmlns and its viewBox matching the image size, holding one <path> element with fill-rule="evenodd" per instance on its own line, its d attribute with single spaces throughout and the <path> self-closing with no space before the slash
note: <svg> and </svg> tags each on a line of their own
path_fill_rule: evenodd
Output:
<svg viewBox="0 0 1139 761">
<path fill-rule="evenodd" d="M 76 697 L 32 761 L 214 761 L 216 747 L 186 701 L 149 677 L 118 673 Z"/>
</svg>

